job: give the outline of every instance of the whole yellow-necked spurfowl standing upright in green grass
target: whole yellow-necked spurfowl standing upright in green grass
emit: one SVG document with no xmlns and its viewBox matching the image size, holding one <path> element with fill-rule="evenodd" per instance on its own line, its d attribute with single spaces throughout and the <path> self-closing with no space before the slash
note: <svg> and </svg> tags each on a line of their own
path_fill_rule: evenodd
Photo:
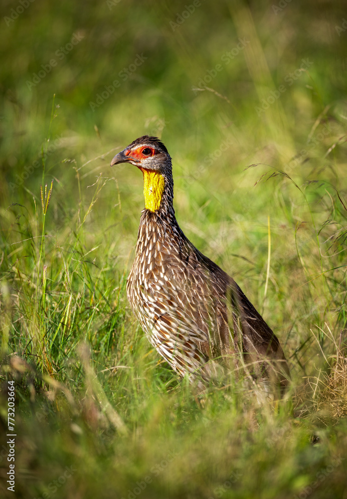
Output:
<svg viewBox="0 0 347 499">
<path fill-rule="evenodd" d="M 111 166 L 119 163 L 137 166 L 144 176 L 145 210 L 127 294 L 152 345 L 180 376 L 207 381 L 242 366 L 253 380 L 275 382 L 282 391 L 290 376 L 277 337 L 236 282 L 178 226 L 163 142 L 140 137 Z"/>
</svg>

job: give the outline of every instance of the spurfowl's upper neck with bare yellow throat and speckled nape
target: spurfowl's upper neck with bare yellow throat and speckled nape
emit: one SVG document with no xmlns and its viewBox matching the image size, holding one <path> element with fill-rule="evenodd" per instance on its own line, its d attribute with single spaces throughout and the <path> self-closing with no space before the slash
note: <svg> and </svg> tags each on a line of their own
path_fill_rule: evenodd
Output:
<svg viewBox="0 0 347 499">
<path fill-rule="evenodd" d="M 151 212 L 165 210 L 173 206 L 174 181 L 172 175 L 141 169 L 144 176 L 145 207 Z"/>
</svg>

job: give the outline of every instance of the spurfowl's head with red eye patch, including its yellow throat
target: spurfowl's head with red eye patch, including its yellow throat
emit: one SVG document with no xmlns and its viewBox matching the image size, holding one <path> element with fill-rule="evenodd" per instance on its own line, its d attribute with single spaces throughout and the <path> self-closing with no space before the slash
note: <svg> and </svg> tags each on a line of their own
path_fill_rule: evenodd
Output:
<svg viewBox="0 0 347 499">
<path fill-rule="evenodd" d="M 131 163 L 137 166 L 144 176 L 145 206 L 155 212 L 159 210 L 165 190 L 173 198 L 171 157 L 167 148 L 157 137 L 144 135 L 134 140 L 123 151 L 116 154 L 111 166 Z"/>
</svg>

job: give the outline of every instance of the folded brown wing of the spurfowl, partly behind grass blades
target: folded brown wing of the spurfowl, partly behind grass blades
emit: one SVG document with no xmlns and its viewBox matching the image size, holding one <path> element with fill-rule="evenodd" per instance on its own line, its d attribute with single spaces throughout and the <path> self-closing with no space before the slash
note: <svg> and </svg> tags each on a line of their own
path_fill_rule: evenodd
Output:
<svg viewBox="0 0 347 499">
<path fill-rule="evenodd" d="M 198 348 L 209 358 L 224 359 L 234 357 L 238 350 L 252 366 L 248 370 L 254 377 L 269 376 L 274 370 L 284 373 L 281 381 L 289 378 L 278 338 L 236 282 L 187 240 L 183 254 L 181 275 L 175 278 L 183 285 L 181 306 L 208 338 Z"/>
</svg>

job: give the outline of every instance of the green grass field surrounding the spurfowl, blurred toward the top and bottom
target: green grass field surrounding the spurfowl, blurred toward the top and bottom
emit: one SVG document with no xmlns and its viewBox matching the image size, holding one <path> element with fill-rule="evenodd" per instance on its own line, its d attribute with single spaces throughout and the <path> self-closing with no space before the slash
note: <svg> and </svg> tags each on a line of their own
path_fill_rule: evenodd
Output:
<svg viewBox="0 0 347 499">
<path fill-rule="evenodd" d="M 201 2 L 174 30 L 184 2 L 32 2 L 6 21 L 16 7 L 0 32 L 1 497 L 14 380 L 14 497 L 346 498 L 344 3 Z M 143 179 L 109 164 L 145 133 L 173 157 L 182 230 L 279 337 L 285 400 L 259 406 L 233 379 L 197 397 L 133 317 Z"/>
</svg>

